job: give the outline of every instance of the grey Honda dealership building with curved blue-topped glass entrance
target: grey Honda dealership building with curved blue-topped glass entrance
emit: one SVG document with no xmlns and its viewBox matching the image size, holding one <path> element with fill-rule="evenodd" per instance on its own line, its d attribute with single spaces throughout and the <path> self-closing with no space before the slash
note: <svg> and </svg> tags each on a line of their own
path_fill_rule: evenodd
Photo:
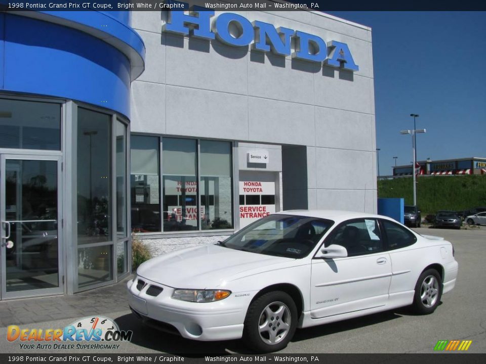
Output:
<svg viewBox="0 0 486 364">
<path fill-rule="evenodd" d="M 315 11 L 0 13 L 0 299 L 287 209 L 377 211 L 371 29 Z"/>
</svg>

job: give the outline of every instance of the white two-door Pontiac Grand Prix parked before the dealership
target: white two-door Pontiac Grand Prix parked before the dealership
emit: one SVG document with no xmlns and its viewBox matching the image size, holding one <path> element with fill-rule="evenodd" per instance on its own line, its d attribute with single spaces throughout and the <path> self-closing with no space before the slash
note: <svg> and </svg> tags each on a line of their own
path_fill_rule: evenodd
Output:
<svg viewBox="0 0 486 364">
<path fill-rule="evenodd" d="M 412 305 L 431 313 L 456 284 L 454 248 L 395 220 L 283 211 L 224 242 L 158 256 L 128 282 L 145 323 L 195 340 L 284 348 L 297 328 Z"/>
</svg>

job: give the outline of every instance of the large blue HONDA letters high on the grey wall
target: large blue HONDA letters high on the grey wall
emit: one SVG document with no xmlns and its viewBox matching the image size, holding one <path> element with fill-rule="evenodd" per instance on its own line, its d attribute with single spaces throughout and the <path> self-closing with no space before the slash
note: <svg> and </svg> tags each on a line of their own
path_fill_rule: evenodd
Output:
<svg viewBox="0 0 486 364">
<path fill-rule="evenodd" d="M 182 4 L 187 9 L 188 4 Z M 217 38 L 232 47 L 251 45 L 252 51 L 272 52 L 284 57 L 292 55 L 294 59 L 352 72 L 359 70 L 346 43 L 326 41 L 317 35 L 258 20 L 250 21 L 235 13 L 223 12 L 215 16 L 213 10 L 199 6 L 193 6 L 189 12 L 169 11 L 168 21 L 163 25 L 162 31 L 207 40 Z M 292 50 L 293 41 L 295 49 Z"/>
</svg>

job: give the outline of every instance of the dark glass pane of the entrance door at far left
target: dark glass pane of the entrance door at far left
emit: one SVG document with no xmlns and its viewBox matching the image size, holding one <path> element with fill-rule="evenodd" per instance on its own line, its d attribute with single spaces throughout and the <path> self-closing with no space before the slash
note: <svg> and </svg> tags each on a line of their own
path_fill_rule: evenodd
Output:
<svg viewBox="0 0 486 364">
<path fill-rule="evenodd" d="M 6 291 L 59 287 L 57 161 L 5 162 Z"/>
</svg>

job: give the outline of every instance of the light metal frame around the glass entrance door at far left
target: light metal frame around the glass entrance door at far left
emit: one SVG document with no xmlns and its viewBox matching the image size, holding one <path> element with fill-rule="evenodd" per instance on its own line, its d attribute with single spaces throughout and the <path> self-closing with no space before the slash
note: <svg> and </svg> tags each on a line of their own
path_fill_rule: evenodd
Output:
<svg viewBox="0 0 486 364">
<path fill-rule="evenodd" d="M 0 221 L 2 221 L 0 226 L 0 233 L 3 237 L 6 236 L 6 228 L 3 223 L 6 219 L 6 205 L 5 205 L 5 175 L 6 175 L 6 161 L 7 160 L 41 160 L 41 161 L 56 161 L 57 162 L 57 226 L 58 226 L 58 287 L 56 288 L 43 288 L 25 291 L 15 291 L 7 292 L 7 278 L 6 278 L 6 262 L 4 261 L 6 257 L 5 247 L 0 246 L 0 299 L 13 299 L 13 298 L 25 298 L 25 297 L 37 297 L 46 295 L 63 294 L 65 291 L 64 287 L 64 244 L 63 244 L 63 200 L 62 200 L 62 156 L 53 155 L 51 153 L 45 153 L 41 151 L 38 154 L 26 154 L 25 151 L 22 153 L 15 154 L 0 154 Z"/>
</svg>

